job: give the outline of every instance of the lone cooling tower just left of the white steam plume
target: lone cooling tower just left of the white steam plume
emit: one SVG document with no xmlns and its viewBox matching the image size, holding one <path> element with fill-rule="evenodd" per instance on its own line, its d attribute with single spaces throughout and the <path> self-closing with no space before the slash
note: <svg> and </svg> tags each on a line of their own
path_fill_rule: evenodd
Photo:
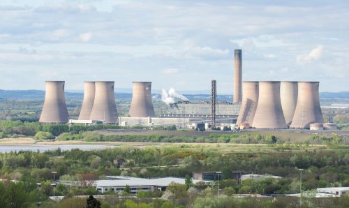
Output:
<svg viewBox="0 0 349 208">
<path fill-rule="evenodd" d="M 151 101 L 151 82 L 133 82 L 129 117 L 155 117 Z"/>
</svg>

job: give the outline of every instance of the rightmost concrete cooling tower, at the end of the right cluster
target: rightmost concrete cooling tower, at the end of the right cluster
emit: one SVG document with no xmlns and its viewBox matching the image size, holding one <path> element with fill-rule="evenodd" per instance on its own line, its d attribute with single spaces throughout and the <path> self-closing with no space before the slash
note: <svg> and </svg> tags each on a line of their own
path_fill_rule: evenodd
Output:
<svg viewBox="0 0 349 208">
<path fill-rule="evenodd" d="M 309 128 L 313 123 L 324 123 L 319 101 L 319 82 L 298 82 L 297 106 L 290 128 Z"/>
</svg>

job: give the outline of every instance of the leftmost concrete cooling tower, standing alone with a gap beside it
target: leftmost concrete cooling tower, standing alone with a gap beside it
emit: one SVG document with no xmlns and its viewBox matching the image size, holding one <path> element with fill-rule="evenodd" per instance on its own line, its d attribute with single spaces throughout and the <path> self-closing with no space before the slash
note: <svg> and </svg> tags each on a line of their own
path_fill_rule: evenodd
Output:
<svg viewBox="0 0 349 208">
<path fill-rule="evenodd" d="M 68 123 L 64 81 L 46 81 L 45 88 L 45 102 L 39 121 L 41 123 Z"/>
</svg>

